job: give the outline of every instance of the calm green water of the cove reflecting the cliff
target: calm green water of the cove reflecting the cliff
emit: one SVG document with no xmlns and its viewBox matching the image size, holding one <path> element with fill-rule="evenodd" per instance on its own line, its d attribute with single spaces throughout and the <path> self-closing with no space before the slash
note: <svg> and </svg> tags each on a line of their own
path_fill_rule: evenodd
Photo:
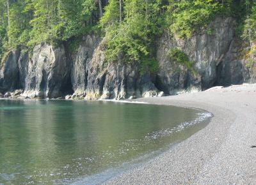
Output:
<svg viewBox="0 0 256 185">
<path fill-rule="evenodd" d="M 0 100 L 0 184 L 94 184 L 203 128 L 201 110 Z"/>
</svg>

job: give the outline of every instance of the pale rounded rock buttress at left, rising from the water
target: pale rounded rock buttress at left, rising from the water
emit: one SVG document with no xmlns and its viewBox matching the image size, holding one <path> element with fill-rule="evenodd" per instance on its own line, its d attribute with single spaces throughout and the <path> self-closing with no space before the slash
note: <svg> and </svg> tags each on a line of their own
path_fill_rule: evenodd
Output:
<svg viewBox="0 0 256 185">
<path fill-rule="evenodd" d="M 71 61 L 65 55 L 65 49 L 52 48 L 51 45 L 37 45 L 31 60 L 20 60 L 26 71 L 24 96 L 30 98 L 58 98 L 68 84 Z M 20 73 L 21 74 L 21 73 Z"/>
</svg>

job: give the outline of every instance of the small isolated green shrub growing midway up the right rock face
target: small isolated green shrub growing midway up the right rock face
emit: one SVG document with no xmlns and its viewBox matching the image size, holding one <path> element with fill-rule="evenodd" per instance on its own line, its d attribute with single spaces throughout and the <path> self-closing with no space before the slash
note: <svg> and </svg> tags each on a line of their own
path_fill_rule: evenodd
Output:
<svg viewBox="0 0 256 185">
<path fill-rule="evenodd" d="M 170 61 L 182 64 L 189 70 L 193 70 L 194 62 L 189 61 L 188 55 L 179 48 L 171 48 L 168 52 L 168 56 L 170 57 Z"/>
</svg>

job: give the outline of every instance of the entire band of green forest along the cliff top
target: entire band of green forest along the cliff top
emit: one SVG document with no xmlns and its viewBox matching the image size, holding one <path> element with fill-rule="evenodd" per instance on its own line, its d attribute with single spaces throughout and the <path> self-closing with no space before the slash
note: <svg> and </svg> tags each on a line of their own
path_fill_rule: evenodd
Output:
<svg viewBox="0 0 256 185">
<path fill-rule="evenodd" d="M 122 57 L 155 71 L 157 36 L 189 38 L 216 16 L 235 17 L 237 33 L 252 48 L 256 41 L 253 0 L 0 0 L 0 11 L 0 58 L 42 41 L 72 45 L 97 31 L 106 36 L 108 61 Z"/>
</svg>

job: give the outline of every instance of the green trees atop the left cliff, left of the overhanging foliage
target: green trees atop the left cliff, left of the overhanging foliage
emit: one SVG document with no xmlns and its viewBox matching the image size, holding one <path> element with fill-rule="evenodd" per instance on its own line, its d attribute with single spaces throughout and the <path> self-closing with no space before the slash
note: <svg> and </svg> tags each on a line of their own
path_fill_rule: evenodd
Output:
<svg viewBox="0 0 256 185">
<path fill-rule="evenodd" d="M 7 43 L 0 40 L 4 50 L 67 41 L 88 33 L 99 20 L 94 0 L 0 0 L 1 8 L 2 27 L 7 28 Z"/>
</svg>

